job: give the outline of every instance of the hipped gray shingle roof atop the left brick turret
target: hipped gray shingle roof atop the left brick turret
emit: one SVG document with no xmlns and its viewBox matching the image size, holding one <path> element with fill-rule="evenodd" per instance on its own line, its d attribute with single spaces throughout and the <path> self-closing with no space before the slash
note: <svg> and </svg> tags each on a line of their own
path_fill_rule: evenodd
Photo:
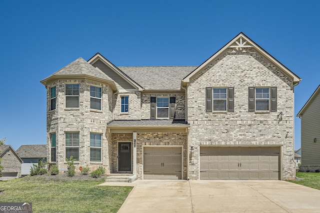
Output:
<svg viewBox="0 0 320 213">
<path fill-rule="evenodd" d="M 93 67 L 88 62 L 86 62 L 81 57 L 76 59 L 75 61 L 71 62 L 70 64 L 66 65 L 62 69 L 56 71 L 52 75 L 48 76 L 47 78 L 40 81 L 42 84 L 47 84 L 48 81 L 58 79 L 58 78 L 82 78 L 82 77 L 91 77 L 98 80 L 102 80 L 110 84 L 113 90 L 116 90 L 114 81 L 106 76 L 101 70 L 98 68 Z"/>
</svg>

